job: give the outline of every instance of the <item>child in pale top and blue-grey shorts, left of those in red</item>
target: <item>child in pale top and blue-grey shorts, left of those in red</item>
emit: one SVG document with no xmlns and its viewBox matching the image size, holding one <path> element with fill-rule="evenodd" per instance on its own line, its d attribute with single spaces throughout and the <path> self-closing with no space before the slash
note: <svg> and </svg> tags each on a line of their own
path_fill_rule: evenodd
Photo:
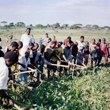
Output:
<svg viewBox="0 0 110 110">
<path fill-rule="evenodd" d="M 95 66 L 97 64 L 97 45 L 95 43 L 95 39 L 92 39 L 92 43 L 90 44 L 90 55 L 91 55 L 91 67 L 93 67 L 93 61 L 95 61 Z"/>
</svg>

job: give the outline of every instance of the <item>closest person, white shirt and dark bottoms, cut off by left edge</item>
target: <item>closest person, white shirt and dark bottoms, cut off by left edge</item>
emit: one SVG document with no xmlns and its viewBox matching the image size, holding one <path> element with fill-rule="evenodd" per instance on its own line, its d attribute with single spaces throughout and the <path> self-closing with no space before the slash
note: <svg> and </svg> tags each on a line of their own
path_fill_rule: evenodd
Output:
<svg viewBox="0 0 110 110">
<path fill-rule="evenodd" d="M 11 99 L 5 92 L 7 88 L 9 70 L 8 67 L 12 66 L 18 61 L 18 56 L 15 52 L 7 52 L 3 57 L 0 57 L 0 95 L 2 100 L 8 99 L 11 105 L 14 104 L 13 99 Z M 4 101 L 5 102 L 5 101 Z M 4 103 L 3 102 L 3 103 Z"/>
</svg>

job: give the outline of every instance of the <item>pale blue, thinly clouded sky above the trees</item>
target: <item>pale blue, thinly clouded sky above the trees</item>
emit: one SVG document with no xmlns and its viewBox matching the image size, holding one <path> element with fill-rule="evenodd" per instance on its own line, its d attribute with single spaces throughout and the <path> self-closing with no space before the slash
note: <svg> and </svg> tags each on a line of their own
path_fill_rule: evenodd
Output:
<svg viewBox="0 0 110 110">
<path fill-rule="evenodd" d="M 110 26 L 110 0 L 0 0 L 0 22 Z"/>
</svg>

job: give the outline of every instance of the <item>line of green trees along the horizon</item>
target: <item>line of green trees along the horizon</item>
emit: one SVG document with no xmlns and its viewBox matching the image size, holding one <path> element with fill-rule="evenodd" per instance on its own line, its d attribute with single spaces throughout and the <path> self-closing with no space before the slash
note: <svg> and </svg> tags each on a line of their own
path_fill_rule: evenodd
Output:
<svg viewBox="0 0 110 110">
<path fill-rule="evenodd" d="M 107 29 L 109 30 L 110 27 L 109 26 L 103 26 L 103 27 L 100 27 L 98 26 L 97 24 L 95 25 L 91 25 L 91 24 L 87 24 L 85 26 L 83 26 L 82 24 L 73 24 L 71 26 L 69 26 L 69 24 L 63 24 L 63 25 L 60 25 L 60 23 L 55 23 L 55 24 L 47 24 L 47 25 L 42 25 L 42 24 L 37 24 L 35 26 L 33 26 L 32 24 L 26 26 L 26 24 L 24 22 L 17 22 L 16 24 L 14 24 L 13 22 L 7 24 L 7 21 L 1 21 L 1 27 L 2 28 L 21 28 L 21 27 L 30 27 L 30 28 L 36 28 L 36 29 L 45 29 L 45 28 L 50 28 L 50 29 L 80 29 L 80 28 L 86 28 L 86 29 L 97 29 L 97 30 L 100 30 L 100 29 Z"/>
</svg>

